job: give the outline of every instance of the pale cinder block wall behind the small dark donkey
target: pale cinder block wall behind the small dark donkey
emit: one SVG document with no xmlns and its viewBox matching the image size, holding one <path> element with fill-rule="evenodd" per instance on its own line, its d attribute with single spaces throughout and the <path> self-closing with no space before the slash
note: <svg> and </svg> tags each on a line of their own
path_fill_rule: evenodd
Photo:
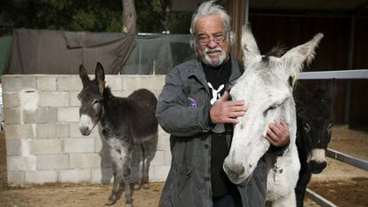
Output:
<svg viewBox="0 0 368 207">
<path fill-rule="evenodd" d="M 1 80 L 10 185 L 112 181 L 108 146 L 98 126 L 88 137 L 78 131 L 79 76 L 2 76 Z M 106 76 L 106 81 L 116 96 L 126 97 L 139 88 L 157 96 L 164 76 Z M 166 179 L 170 163 L 169 135 L 159 128 L 150 180 Z"/>
</svg>

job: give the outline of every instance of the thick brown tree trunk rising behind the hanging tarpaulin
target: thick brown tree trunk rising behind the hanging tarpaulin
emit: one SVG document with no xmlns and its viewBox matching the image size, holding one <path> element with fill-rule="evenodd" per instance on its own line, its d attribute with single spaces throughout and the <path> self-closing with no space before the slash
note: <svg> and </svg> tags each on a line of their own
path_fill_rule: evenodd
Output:
<svg viewBox="0 0 368 207">
<path fill-rule="evenodd" d="M 137 33 L 137 13 L 135 12 L 134 0 L 122 0 L 123 5 L 123 33 Z"/>
</svg>

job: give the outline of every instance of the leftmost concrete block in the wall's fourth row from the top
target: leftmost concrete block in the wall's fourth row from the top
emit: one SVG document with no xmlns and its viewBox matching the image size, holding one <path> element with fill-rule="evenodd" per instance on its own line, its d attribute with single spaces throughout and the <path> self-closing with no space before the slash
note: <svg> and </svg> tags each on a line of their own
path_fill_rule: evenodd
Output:
<svg viewBox="0 0 368 207">
<path fill-rule="evenodd" d="M 35 132 L 32 124 L 4 125 L 5 139 L 33 139 Z"/>
</svg>

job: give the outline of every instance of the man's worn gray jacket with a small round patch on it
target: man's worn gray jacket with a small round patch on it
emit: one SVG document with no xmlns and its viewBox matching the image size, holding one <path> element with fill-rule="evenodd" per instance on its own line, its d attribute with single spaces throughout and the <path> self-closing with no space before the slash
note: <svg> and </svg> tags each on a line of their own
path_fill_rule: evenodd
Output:
<svg viewBox="0 0 368 207">
<path fill-rule="evenodd" d="M 238 61 L 231 61 L 227 90 L 242 75 Z M 164 131 L 171 134 L 172 166 L 160 207 L 212 207 L 210 100 L 211 93 L 198 60 L 182 63 L 167 74 L 156 116 Z M 230 145 L 231 134 L 227 139 Z M 266 184 L 266 164 L 262 158 L 252 177 L 237 186 L 243 207 L 265 206 Z"/>
</svg>

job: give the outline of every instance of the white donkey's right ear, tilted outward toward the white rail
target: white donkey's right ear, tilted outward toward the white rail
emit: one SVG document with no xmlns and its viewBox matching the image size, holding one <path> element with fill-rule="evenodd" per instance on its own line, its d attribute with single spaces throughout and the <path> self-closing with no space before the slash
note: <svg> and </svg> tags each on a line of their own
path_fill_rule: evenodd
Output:
<svg viewBox="0 0 368 207">
<path fill-rule="evenodd" d="M 308 43 L 300 44 L 286 52 L 282 57 L 282 60 L 288 65 L 286 68 L 290 68 L 290 74 L 293 78 L 297 78 L 300 70 L 303 68 L 304 62 L 307 60 L 309 64 L 315 57 L 316 47 L 321 41 L 324 35 L 322 33 L 316 34 Z"/>
</svg>

